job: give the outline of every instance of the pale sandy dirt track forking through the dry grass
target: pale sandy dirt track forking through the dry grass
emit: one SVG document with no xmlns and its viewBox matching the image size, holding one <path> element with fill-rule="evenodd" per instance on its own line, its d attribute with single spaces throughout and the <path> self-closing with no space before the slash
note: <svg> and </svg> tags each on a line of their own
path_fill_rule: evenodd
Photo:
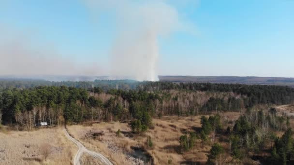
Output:
<svg viewBox="0 0 294 165">
<path fill-rule="evenodd" d="M 67 132 L 67 130 L 64 128 L 64 132 L 67 138 L 69 138 L 75 145 L 79 147 L 79 150 L 76 152 L 74 159 L 73 159 L 73 165 L 81 165 L 81 156 L 83 153 L 88 153 L 89 155 L 93 156 L 94 158 L 97 158 L 103 165 L 113 165 L 105 156 L 103 156 L 100 153 L 89 151 L 82 143 L 74 139 L 70 136 L 70 134 Z"/>
</svg>

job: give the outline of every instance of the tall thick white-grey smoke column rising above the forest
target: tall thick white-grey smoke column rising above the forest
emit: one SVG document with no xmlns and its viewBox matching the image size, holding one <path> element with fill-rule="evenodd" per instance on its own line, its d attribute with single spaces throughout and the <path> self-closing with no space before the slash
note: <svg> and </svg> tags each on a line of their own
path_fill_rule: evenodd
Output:
<svg viewBox="0 0 294 165">
<path fill-rule="evenodd" d="M 118 34 L 111 50 L 112 76 L 158 81 L 158 37 L 180 27 L 178 12 L 165 0 L 88 0 L 96 9 L 112 11 Z"/>
</svg>

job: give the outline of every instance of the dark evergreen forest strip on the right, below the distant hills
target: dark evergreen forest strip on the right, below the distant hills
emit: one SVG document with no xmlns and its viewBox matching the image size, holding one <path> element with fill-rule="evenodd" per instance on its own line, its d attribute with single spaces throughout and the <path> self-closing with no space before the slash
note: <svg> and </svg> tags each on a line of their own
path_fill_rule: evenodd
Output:
<svg viewBox="0 0 294 165">
<path fill-rule="evenodd" d="M 233 92 L 247 96 L 246 107 L 256 104 L 292 104 L 294 88 L 276 85 L 245 85 L 223 83 L 162 83 L 152 82 L 144 85 L 146 91 L 188 90 L 209 92 Z"/>
</svg>

